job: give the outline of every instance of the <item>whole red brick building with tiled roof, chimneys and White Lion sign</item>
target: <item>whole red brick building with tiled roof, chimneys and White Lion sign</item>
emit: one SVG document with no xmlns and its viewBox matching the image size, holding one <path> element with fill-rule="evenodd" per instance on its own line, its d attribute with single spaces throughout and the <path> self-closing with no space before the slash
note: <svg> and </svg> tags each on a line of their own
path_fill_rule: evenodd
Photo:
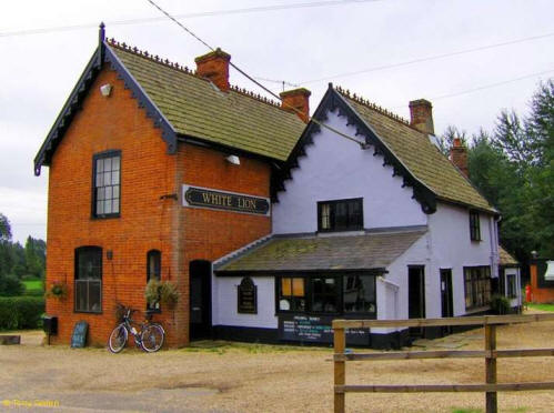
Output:
<svg viewBox="0 0 554 413">
<path fill-rule="evenodd" d="M 83 320 L 89 343 L 104 344 L 117 304 L 144 312 L 159 278 L 180 300 L 155 320 L 169 345 L 185 345 L 210 324 L 210 263 L 271 233 L 272 171 L 305 127 L 310 93 L 285 94 L 303 111 L 291 113 L 231 87 L 230 58 L 218 49 L 193 71 L 101 29 L 34 160 L 36 174 L 50 169 L 47 288 L 68 289 L 47 300 L 52 343 Z"/>
</svg>

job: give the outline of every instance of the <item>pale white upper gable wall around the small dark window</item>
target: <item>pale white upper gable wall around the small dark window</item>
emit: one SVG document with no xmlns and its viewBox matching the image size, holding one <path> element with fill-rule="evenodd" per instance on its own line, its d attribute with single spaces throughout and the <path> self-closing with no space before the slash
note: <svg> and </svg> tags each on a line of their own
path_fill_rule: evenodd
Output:
<svg viewBox="0 0 554 413">
<path fill-rule="evenodd" d="M 329 113 L 331 127 L 355 135 L 346 118 Z M 383 167 L 383 157 L 373 148 L 362 150 L 355 142 L 322 129 L 305 148 L 300 168 L 292 170 L 285 191 L 273 204 L 273 232 L 318 231 L 318 201 L 363 198 L 364 228 L 425 225 L 426 215 L 412 199 L 412 190 L 402 188 L 402 178 L 392 177 L 392 167 Z"/>
</svg>

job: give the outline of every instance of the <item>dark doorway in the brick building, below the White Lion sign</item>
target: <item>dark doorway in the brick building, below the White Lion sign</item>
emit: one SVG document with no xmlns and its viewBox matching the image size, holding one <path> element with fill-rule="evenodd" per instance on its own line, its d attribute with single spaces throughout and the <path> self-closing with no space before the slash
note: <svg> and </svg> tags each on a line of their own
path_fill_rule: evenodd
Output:
<svg viewBox="0 0 554 413">
<path fill-rule="evenodd" d="M 211 339 L 212 335 L 212 264 L 194 260 L 189 264 L 190 278 L 190 340 Z"/>
</svg>

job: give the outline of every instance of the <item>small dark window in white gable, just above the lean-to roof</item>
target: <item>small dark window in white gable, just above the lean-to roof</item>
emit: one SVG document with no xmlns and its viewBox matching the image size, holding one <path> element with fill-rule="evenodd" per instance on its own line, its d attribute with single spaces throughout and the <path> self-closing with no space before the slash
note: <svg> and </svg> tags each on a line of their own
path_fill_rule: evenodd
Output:
<svg viewBox="0 0 554 413">
<path fill-rule="evenodd" d="M 363 230 L 363 199 L 318 202 L 318 231 Z"/>
</svg>

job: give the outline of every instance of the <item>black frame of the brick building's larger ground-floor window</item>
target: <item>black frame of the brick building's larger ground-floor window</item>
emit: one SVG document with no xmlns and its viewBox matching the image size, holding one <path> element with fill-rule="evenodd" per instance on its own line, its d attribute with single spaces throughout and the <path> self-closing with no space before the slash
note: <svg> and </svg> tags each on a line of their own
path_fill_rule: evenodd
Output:
<svg viewBox="0 0 554 413">
<path fill-rule="evenodd" d="M 97 259 L 98 259 L 98 265 L 97 268 L 100 270 L 100 276 L 99 278 L 81 278 L 81 272 L 80 269 L 82 268 L 82 259 L 84 256 L 81 256 L 81 254 L 87 254 L 94 252 L 97 253 Z M 79 285 L 85 285 L 87 286 L 87 301 L 88 305 L 85 309 L 78 308 L 78 295 L 80 288 Z M 90 288 L 91 284 L 98 284 L 98 291 L 99 291 L 99 298 L 98 302 L 100 304 L 99 310 L 92 310 L 90 308 Z M 73 276 L 73 312 L 75 313 L 90 313 L 90 314 L 102 314 L 102 308 L 103 308 L 103 294 L 102 294 L 102 288 L 103 288 L 103 250 L 101 246 L 95 246 L 95 245 L 85 245 L 85 246 L 79 246 L 74 250 L 74 276 Z"/>
</svg>

